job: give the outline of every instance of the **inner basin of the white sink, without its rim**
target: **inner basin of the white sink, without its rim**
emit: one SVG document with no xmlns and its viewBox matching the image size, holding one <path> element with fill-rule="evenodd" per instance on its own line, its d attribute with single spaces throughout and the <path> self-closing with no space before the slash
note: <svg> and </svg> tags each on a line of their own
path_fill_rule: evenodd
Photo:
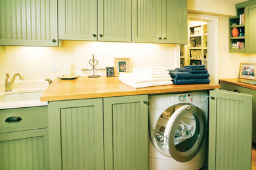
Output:
<svg viewBox="0 0 256 170">
<path fill-rule="evenodd" d="M 23 93 L 5 93 L 0 98 L 0 102 L 12 102 L 12 101 L 40 101 L 40 96 L 43 92 L 23 92 Z"/>
</svg>

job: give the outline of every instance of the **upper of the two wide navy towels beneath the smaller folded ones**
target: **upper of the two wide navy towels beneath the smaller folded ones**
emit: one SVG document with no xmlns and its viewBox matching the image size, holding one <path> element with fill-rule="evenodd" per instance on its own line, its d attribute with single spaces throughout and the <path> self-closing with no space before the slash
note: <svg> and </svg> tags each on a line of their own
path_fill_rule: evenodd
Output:
<svg viewBox="0 0 256 170">
<path fill-rule="evenodd" d="M 176 79 L 192 79 L 192 78 L 208 78 L 209 73 L 188 73 L 179 71 L 169 71 L 171 78 Z"/>
</svg>

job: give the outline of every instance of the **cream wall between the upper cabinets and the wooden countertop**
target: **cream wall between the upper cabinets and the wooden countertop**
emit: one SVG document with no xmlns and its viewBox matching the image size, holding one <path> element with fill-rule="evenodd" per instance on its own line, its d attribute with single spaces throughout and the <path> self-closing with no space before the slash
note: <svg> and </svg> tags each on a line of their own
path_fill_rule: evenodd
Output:
<svg viewBox="0 0 256 170">
<path fill-rule="evenodd" d="M 6 46 L 5 50 L 0 54 L 0 82 L 5 81 L 5 73 L 21 73 L 26 80 L 53 79 L 64 73 L 67 61 L 72 62 L 75 74 L 91 75 L 92 71 L 83 73 L 81 69 L 91 69 L 92 54 L 98 59 L 96 68 L 114 66 L 114 58 L 131 58 L 131 68 L 177 67 L 177 46 L 173 44 L 63 41 L 63 47 Z M 51 62 L 58 62 L 58 72 L 51 72 Z M 105 71 L 96 74 L 106 75 Z"/>
</svg>

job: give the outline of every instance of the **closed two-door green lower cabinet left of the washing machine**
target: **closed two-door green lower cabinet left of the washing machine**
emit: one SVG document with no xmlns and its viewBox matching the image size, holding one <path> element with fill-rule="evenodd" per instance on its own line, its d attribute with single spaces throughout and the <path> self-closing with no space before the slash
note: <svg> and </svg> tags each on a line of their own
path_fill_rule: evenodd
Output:
<svg viewBox="0 0 256 170">
<path fill-rule="evenodd" d="M 51 170 L 148 169 L 148 95 L 49 102 Z"/>
</svg>

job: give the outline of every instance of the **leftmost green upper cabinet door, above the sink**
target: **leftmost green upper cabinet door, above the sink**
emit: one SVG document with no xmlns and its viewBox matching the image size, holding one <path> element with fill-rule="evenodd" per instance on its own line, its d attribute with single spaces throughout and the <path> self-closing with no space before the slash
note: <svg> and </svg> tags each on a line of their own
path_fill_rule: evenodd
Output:
<svg viewBox="0 0 256 170">
<path fill-rule="evenodd" d="M 1 0 L 0 45 L 58 46 L 57 0 Z"/>
</svg>

